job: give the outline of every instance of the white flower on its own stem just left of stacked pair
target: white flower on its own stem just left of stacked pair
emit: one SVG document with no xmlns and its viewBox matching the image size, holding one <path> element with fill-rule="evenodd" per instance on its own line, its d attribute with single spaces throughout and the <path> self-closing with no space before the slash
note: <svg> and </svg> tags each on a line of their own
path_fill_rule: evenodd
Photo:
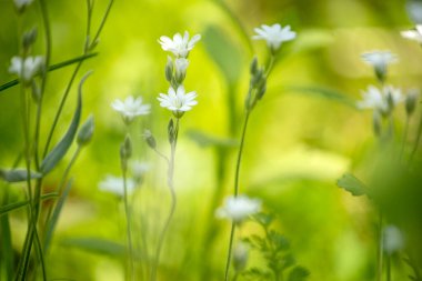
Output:
<svg viewBox="0 0 422 281">
<path fill-rule="evenodd" d="M 134 99 L 129 96 L 124 101 L 119 99 L 111 103 L 111 107 L 120 112 L 123 117 L 124 122 L 130 123 L 138 116 L 147 116 L 150 113 L 150 104 L 142 104 L 142 97 Z"/>
</svg>

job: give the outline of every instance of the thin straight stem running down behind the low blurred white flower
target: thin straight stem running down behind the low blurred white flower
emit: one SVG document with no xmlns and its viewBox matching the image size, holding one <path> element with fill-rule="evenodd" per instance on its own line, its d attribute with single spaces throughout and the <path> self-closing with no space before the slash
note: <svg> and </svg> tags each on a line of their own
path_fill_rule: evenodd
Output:
<svg viewBox="0 0 422 281">
<path fill-rule="evenodd" d="M 244 139 L 247 136 L 247 129 L 248 129 L 248 121 L 249 121 L 249 116 L 251 111 L 247 110 L 247 114 L 244 118 L 244 123 L 243 123 L 243 129 L 242 129 L 242 136 L 240 139 L 240 147 L 239 147 L 239 153 L 238 153 L 238 161 L 235 163 L 235 172 L 234 172 L 234 190 L 233 194 L 234 197 L 238 197 L 239 194 L 239 175 L 240 175 L 240 163 L 242 161 L 242 153 L 243 153 L 243 145 L 244 145 Z M 229 250 L 228 250 L 228 259 L 225 261 L 225 273 L 224 273 L 224 280 L 229 280 L 229 271 L 230 271 L 230 260 L 231 260 L 231 252 L 233 248 L 233 238 L 234 238 L 234 222 L 231 224 L 231 231 L 230 231 L 230 240 L 229 240 Z"/>
</svg>

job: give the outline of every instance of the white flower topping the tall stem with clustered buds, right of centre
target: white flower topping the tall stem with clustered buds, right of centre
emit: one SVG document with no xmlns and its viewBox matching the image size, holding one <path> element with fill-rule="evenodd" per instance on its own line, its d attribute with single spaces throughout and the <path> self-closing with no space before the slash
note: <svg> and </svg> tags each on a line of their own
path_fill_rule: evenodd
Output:
<svg viewBox="0 0 422 281">
<path fill-rule="evenodd" d="M 261 28 L 255 28 L 258 36 L 253 36 L 254 40 L 265 40 L 267 46 L 272 52 L 275 52 L 282 42 L 293 40 L 297 37 L 294 31 L 290 30 L 290 26 L 281 28 L 279 23 L 271 27 L 262 24 Z"/>
</svg>

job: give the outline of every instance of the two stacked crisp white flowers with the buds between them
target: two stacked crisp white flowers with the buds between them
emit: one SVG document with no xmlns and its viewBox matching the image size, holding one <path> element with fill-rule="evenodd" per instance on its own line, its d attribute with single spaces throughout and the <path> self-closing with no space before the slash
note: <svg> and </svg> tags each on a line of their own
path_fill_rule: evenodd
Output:
<svg viewBox="0 0 422 281">
<path fill-rule="evenodd" d="M 164 51 L 172 52 L 175 59 L 173 62 L 172 58 L 169 57 L 165 67 L 165 78 L 170 82 L 170 88 L 167 94 L 160 93 L 157 99 L 160 101 L 160 106 L 172 111 L 175 118 L 181 118 L 185 111 L 191 110 L 198 103 L 195 100 L 197 92 L 187 93 L 182 82 L 189 67 L 189 52 L 200 39 L 200 34 L 189 39 L 189 32 L 184 31 L 183 37 L 175 33 L 173 39 L 162 36 L 159 40 L 161 48 Z"/>
</svg>

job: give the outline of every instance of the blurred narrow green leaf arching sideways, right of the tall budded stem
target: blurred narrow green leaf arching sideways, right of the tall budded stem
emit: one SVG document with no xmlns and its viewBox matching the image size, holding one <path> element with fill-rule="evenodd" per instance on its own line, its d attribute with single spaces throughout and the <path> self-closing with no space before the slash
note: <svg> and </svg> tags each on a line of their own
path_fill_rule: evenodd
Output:
<svg viewBox="0 0 422 281">
<path fill-rule="evenodd" d="M 282 88 L 283 92 L 297 92 L 297 93 L 304 93 L 304 94 L 312 94 L 321 98 L 325 98 L 329 100 L 333 100 L 340 103 L 343 103 L 345 106 L 356 108 L 355 101 L 351 98 L 349 98 L 346 94 L 341 93 L 339 91 L 332 90 L 332 89 L 325 89 L 320 88 L 315 86 L 289 86 Z"/>
</svg>

